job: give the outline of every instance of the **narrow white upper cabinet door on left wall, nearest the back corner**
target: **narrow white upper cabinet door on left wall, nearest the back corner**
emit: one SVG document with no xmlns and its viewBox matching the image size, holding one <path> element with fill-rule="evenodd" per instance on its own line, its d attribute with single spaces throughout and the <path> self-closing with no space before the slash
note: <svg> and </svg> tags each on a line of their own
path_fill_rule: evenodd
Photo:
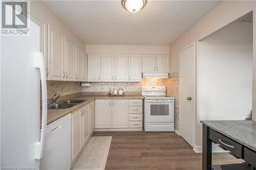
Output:
<svg viewBox="0 0 256 170">
<path fill-rule="evenodd" d="M 81 82 L 82 81 L 82 48 L 76 46 L 76 74 L 75 74 L 75 81 Z"/>
</svg>

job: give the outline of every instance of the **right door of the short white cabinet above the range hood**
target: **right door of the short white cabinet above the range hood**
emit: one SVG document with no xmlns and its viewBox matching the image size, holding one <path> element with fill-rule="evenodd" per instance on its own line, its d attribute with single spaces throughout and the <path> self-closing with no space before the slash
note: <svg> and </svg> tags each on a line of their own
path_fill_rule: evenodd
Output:
<svg viewBox="0 0 256 170">
<path fill-rule="evenodd" d="M 169 56 L 157 55 L 156 57 L 156 72 L 168 73 L 169 72 Z"/>
</svg>

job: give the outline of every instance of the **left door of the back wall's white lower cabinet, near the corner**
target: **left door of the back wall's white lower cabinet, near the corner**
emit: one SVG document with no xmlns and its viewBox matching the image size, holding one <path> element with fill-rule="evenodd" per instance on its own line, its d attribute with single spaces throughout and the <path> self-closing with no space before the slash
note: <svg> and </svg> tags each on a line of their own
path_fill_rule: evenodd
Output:
<svg viewBox="0 0 256 170">
<path fill-rule="evenodd" d="M 95 101 L 95 128 L 112 128 L 112 100 Z"/>
</svg>

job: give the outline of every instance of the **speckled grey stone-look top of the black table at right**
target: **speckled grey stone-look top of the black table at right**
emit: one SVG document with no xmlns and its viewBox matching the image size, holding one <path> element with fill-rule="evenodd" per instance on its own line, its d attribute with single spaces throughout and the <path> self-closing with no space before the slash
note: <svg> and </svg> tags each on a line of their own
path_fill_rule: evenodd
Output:
<svg viewBox="0 0 256 170">
<path fill-rule="evenodd" d="M 204 120 L 201 123 L 256 151 L 256 122 L 252 120 Z"/>
</svg>

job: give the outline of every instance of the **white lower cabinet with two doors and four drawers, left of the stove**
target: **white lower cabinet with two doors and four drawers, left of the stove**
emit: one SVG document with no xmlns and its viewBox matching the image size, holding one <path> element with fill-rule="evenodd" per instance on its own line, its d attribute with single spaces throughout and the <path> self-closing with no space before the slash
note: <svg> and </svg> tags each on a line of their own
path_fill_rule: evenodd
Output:
<svg viewBox="0 0 256 170">
<path fill-rule="evenodd" d="M 142 130 L 142 99 L 95 100 L 95 129 Z"/>
</svg>

